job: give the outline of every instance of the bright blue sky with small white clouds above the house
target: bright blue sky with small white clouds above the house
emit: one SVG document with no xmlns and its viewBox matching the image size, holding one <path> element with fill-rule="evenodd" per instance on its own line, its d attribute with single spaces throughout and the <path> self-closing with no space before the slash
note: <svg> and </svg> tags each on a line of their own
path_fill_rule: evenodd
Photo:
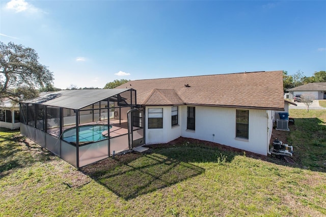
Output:
<svg viewBox="0 0 326 217">
<path fill-rule="evenodd" d="M 326 1 L 1 0 L 0 7 L 0 40 L 34 48 L 61 89 L 326 70 Z"/>
</svg>

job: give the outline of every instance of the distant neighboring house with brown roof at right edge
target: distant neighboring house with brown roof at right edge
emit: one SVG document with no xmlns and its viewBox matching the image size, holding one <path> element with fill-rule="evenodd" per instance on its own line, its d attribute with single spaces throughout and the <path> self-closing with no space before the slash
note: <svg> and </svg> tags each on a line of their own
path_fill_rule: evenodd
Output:
<svg viewBox="0 0 326 217">
<path fill-rule="evenodd" d="M 298 86 L 287 90 L 289 98 L 298 94 L 310 94 L 314 99 L 326 99 L 326 82 L 309 83 L 306 85 Z"/>
</svg>

